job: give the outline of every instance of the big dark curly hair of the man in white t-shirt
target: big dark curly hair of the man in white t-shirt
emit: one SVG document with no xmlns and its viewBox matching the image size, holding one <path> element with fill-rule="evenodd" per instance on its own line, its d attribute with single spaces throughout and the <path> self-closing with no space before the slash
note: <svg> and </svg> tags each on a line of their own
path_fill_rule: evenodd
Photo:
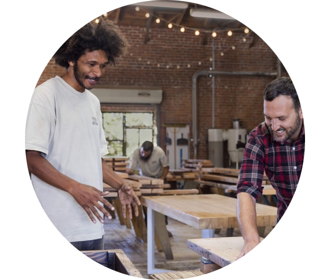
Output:
<svg viewBox="0 0 330 280">
<path fill-rule="evenodd" d="M 92 20 L 71 35 L 55 52 L 55 63 L 67 68 L 68 61 L 76 62 L 86 51 L 104 50 L 108 60 L 115 65 L 115 58 L 126 52 L 128 43 L 117 25 L 104 16 Z"/>
</svg>

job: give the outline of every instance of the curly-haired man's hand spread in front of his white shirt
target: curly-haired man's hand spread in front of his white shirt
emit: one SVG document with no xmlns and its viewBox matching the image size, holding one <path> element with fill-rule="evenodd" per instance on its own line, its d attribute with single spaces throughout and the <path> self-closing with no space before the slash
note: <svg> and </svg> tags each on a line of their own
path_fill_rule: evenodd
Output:
<svg viewBox="0 0 330 280">
<path fill-rule="evenodd" d="M 111 214 L 103 206 L 105 205 L 109 209 L 114 210 L 113 205 L 105 198 L 103 198 L 103 195 L 106 195 L 108 191 L 100 191 L 93 186 L 78 184 L 77 186 L 70 188 L 69 193 L 73 196 L 77 203 L 86 211 L 87 215 L 93 223 L 96 222 L 95 217 L 98 218 L 101 223 L 104 222 L 103 217 L 99 214 L 97 209 L 101 213 L 103 213 L 108 219 L 111 219 Z"/>
</svg>

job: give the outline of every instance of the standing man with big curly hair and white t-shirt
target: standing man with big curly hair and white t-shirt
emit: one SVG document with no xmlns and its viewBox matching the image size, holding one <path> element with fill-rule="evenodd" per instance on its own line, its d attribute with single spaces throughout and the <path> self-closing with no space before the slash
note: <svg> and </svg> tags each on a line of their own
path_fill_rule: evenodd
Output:
<svg viewBox="0 0 330 280">
<path fill-rule="evenodd" d="M 132 188 L 102 159 L 107 154 L 99 100 L 88 89 L 127 42 L 105 18 L 81 27 L 54 54 L 66 71 L 37 86 L 28 109 L 25 154 L 36 195 L 59 232 L 79 250 L 103 249 L 103 182 L 118 190 L 124 217 L 138 215 Z"/>
</svg>

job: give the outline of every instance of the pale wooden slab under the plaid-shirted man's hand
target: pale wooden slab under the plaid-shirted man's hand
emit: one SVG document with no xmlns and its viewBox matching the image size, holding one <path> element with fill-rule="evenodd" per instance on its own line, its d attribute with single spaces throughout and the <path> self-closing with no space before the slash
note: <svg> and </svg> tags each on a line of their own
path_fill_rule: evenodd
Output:
<svg viewBox="0 0 330 280">
<path fill-rule="evenodd" d="M 241 236 L 187 239 L 188 248 L 221 267 L 236 260 L 243 244 Z"/>
</svg>

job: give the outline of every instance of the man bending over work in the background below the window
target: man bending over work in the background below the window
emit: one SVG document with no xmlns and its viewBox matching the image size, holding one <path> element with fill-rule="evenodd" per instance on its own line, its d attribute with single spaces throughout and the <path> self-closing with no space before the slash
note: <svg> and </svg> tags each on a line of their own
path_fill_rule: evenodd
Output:
<svg viewBox="0 0 330 280">
<path fill-rule="evenodd" d="M 165 152 L 159 146 L 153 146 L 150 141 L 144 141 L 141 147 L 136 148 L 127 168 L 128 174 L 133 174 L 139 167 L 139 174 L 165 180 L 168 173 L 168 160 Z"/>
</svg>

